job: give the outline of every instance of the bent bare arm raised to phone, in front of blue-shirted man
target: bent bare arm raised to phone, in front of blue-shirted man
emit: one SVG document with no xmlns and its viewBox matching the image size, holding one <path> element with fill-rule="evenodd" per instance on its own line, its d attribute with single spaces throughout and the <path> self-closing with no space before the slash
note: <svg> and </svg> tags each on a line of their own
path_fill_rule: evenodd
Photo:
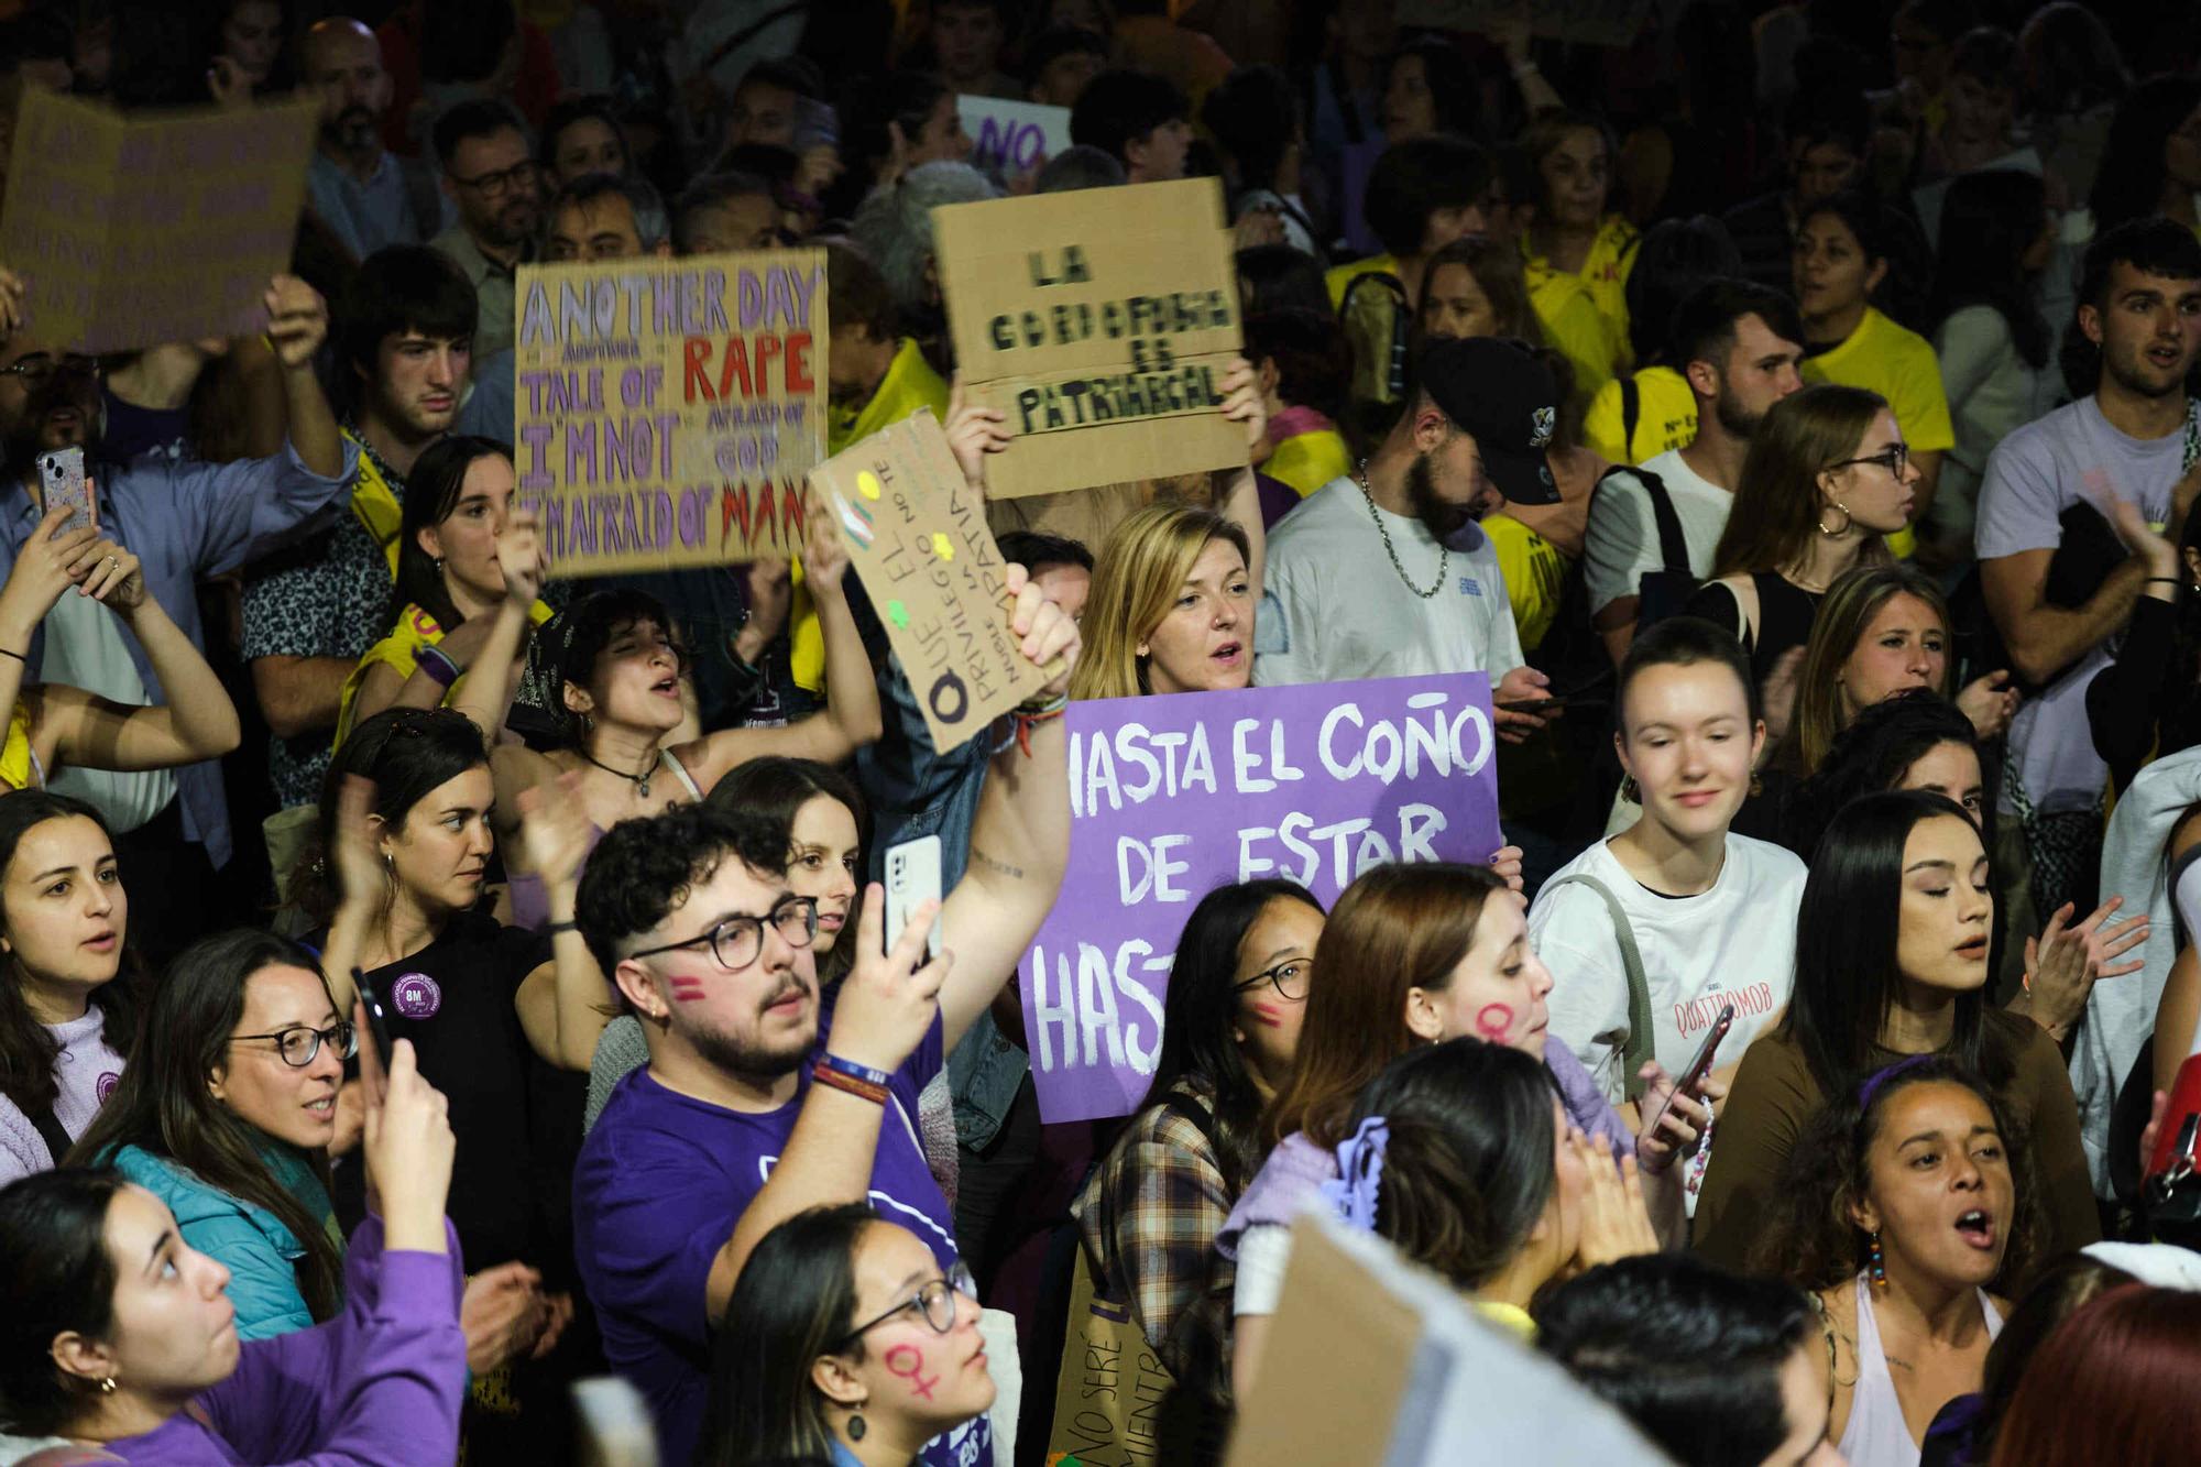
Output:
<svg viewBox="0 0 2201 1467">
<path fill-rule="evenodd" d="M 99 540 L 77 551 L 77 590 L 106 601 L 145 648 L 165 703 L 130 707 L 81 687 L 46 687 L 42 742 L 55 764 L 86 769 L 174 769 L 216 760 L 238 747 L 238 707 L 205 654 L 145 593 L 139 557 Z"/>
</svg>

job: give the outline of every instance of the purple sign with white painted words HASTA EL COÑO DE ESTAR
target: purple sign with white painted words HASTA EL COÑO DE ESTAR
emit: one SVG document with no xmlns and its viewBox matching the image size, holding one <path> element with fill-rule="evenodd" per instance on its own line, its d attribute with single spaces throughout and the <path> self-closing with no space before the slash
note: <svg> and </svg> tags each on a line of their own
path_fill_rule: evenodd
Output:
<svg viewBox="0 0 2201 1467">
<path fill-rule="evenodd" d="M 1387 861 L 1499 848 L 1481 672 L 1070 705 L 1070 874 L 1021 965 L 1043 1121 L 1129 1115 L 1193 905 L 1290 877 L 1327 910 Z"/>
</svg>

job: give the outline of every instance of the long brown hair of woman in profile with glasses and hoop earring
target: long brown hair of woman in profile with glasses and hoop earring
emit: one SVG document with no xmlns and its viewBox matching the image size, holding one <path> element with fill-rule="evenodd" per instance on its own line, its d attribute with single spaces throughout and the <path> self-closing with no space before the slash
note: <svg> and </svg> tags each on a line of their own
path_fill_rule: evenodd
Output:
<svg viewBox="0 0 2201 1467">
<path fill-rule="evenodd" d="M 1710 579 L 1798 564 L 1825 515 L 1818 476 L 1853 456 L 1886 408 L 1888 399 L 1877 392 L 1840 383 L 1818 383 L 1774 403 L 1750 438 Z M 1884 557 L 1880 535 L 1866 535 L 1864 559 Z"/>
</svg>

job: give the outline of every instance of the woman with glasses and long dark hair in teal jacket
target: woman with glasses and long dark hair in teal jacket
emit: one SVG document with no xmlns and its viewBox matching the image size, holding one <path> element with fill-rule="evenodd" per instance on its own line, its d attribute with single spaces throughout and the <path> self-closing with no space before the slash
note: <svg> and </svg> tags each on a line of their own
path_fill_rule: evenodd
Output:
<svg viewBox="0 0 2201 1467">
<path fill-rule="evenodd" d="M 359 1044 L 313 954 L 269 932 L 187 947 L 145 1004 L 143 1044 L 70 1159 L 112 1165 L 229 1269 L 238 1337 L 343 1308 L 328 1192 L 343 1062 Z"/>
</svg>

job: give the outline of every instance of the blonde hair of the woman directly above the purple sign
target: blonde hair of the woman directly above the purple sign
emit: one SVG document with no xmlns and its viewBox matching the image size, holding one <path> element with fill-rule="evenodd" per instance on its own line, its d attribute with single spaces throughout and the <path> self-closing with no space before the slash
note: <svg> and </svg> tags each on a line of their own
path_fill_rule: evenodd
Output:
<svg viewBox="0 0 2201 1467">
<path fill-rule="evenodd" d="M 1178 590 L 1211 540 L 1237 546 L 1252 564 L 1246 531 L 1191 504 L 1147 504 L 1131 513 L 1100 546 L 1085 601 L 1085 652 L 1070 674 L 1072 698 L 1136 698 L 1147 687 L 1138 643 L 1162 626 Z"/>
</svg>

